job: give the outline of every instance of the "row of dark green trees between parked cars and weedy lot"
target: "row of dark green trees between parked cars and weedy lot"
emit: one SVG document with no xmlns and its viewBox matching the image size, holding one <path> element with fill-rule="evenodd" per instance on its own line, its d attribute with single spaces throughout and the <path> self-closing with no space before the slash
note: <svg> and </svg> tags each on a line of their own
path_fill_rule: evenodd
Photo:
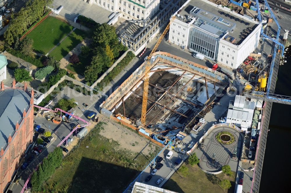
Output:
<svg viewBox="0 0 291 193">
<path fill-rule="evenodd" d="M 63 152 L 57 147 L 53 152 L 49 152 L 47 158 L 43 159 L 42 164 L 38 165 L 38 170 L 31 175 L 32 191 L 39 192 L 44 181 L 54 173 L 57 167 L 62 163 Z"/>
</svg>

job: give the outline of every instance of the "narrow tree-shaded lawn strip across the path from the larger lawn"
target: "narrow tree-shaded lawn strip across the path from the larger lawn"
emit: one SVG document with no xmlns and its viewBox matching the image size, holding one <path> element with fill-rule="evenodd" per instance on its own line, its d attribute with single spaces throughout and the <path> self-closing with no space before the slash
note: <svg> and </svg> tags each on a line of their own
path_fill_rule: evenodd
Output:
<svg viewBox="0 0 291 193">
<path fill-rule="evenodd" d="M 83 38 L 85 38 L 86 33 L 75 29 L 64 41 L 61 42 L 52 52 L 49 54 L 51 56 L 55 56 L 56 60 L 59 61 L 63 57 L 65 57 L 73 48 L 75 48 Z"/>
</svg>

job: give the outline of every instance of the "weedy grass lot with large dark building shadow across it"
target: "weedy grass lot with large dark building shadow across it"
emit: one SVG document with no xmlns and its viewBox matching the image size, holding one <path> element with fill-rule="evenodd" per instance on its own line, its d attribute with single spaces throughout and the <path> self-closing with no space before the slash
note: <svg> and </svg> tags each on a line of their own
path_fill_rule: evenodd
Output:
<svg viewBox="0 0 291 193">
<path fill-rule="evenodd" d="M 99 134 L 102 122 L 63 159 L 61 167 L 43 185 L 44 192 L 122 192 L 148 160 L 148 155 L 131 152 L 117 141 Z"/>
</svg>

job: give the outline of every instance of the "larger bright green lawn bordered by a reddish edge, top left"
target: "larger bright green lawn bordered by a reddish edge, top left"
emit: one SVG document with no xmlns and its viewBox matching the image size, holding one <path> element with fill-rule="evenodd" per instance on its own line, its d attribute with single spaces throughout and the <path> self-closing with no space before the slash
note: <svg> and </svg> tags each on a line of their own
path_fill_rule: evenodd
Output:
<svg viewBox="0 0 291 193">
<path fill-rule="evenodd" d="M 72 29 L 73 27 L 69 24 L 49 16 L 26 37 L 33 39 L 33 48 L 36 52 L 47 54 Z"/>
</svg>

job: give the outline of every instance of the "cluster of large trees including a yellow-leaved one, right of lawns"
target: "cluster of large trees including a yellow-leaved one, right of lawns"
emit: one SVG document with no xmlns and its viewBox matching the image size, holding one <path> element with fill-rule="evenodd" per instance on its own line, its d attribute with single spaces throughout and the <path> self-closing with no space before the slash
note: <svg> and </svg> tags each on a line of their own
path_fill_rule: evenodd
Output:
<svg viewBox="0 0 291 193">
<path fill-rule="evenodd" d="M 84 72 L 85 80 L 93 83 L 97 80 L 98 75 L 105 72 L 119 57 L 121 51 L 126 51 L 127 48 L 118 41 L 114 26 L 103 23 L 97 25 L 93 30 L 91 51 L 93 57 L 91 65 L 86 67 Z M 81 48 L 85 54 L 89 52 L 86 48 Z"/>
</svg>

